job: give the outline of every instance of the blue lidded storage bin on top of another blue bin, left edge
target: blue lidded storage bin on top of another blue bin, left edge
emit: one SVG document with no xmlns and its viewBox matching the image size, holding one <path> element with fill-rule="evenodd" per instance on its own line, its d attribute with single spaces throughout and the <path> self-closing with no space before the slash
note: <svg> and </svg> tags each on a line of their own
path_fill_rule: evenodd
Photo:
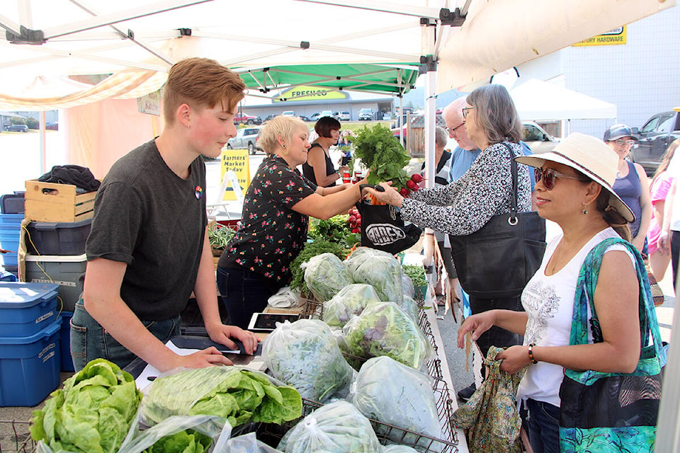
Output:
<svg viewBox="0 0 680 453">
<path fill-rule="evenodd" d="M 54 283 L 0 282 L 0 337 L 27 337 L 57 319 Z"/>
</svg>

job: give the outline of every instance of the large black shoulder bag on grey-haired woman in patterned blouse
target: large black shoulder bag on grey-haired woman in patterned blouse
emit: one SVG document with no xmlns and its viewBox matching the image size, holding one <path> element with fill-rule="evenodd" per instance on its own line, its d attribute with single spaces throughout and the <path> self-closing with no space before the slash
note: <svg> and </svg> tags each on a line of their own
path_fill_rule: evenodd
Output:
<svg viewBox="0 0 680 453">
<path fill-rule="evenodd" d="M 511 211 L 472 234 L 449 238 L 460 286 L 482 299 L 518 297 L 545 253 L 545 219 L 538 212 L 517 212 L 517 163 L 505 147 L 511 161 Z"/>
</svg>

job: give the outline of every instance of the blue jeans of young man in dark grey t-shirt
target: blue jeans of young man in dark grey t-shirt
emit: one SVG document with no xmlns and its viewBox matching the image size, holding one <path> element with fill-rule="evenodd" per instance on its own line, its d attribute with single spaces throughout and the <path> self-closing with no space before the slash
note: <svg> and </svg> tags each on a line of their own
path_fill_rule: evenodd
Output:
<svg viewBox="0 0 680 453">
<path fill-rule="evenodd" d="M 163 321 L 142 320 L 142 324 L 162 343 L 167 343 L 171 337 L 180 334 L 181 321 L 181 316 L 178 314 Z M 100 357 L 115 363 L 120 368 L 127 367 L 132 360 L 137 358 L 90 316 L 85 310 L 82 297 L 76 302 L 71 319 L 71 357 L 76 371 L 83 369 L 91 360 Z"/>
</svg>

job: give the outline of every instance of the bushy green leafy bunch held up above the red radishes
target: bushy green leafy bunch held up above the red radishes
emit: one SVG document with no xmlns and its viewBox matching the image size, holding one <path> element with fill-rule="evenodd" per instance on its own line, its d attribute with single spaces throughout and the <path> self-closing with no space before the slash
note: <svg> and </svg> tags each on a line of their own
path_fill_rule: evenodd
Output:
<svg viewBox="0 0 680 453">
<path fill-rule="evenodd" d="M 377 123 L 358 130 L 353 142 L 354 155 L 370 169 L 368 183 L 392 181 L 392 187 L 406 188 L 409 176 L 404 167 L 409 155 L 387 127 Z"/>
</svg>

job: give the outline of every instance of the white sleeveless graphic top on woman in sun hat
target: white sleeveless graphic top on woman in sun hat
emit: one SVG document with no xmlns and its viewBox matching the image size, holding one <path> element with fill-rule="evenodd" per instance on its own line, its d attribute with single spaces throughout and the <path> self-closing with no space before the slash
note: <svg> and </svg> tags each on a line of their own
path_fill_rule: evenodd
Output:
<svg viewBox="0 0 680 453">
<path fill-rule="evenodd" d="M 522 292 L 522 305 L 528 316 L 524 345 L 529 343 L 536 343 L 537 346 L 569 345 L 579 271 L 589 251 L 604 239 L 611 237 L 619 236 L 611 228 L 600 231 L 564 268 L 549 277 L 545 275 L 545 265 L 553 256 L 562 235 L 560 234 L 548 243 L 543 263 L 540 264 L 540 268 Z M 635 265 L 633 255 L 623 246 L 615 245 L 607 248 L 607 251 L 611 250 L 628 252 L 631 262 Z M 590 332 L 588 336 L 592 341 Z M 564 375 L 564 368 L 560 365 L 547 362 L 529 365 L 519 384 L 517 401 L 532 398 L 560 407 L 560 384 L 562 384 Z"/>
</svg>

